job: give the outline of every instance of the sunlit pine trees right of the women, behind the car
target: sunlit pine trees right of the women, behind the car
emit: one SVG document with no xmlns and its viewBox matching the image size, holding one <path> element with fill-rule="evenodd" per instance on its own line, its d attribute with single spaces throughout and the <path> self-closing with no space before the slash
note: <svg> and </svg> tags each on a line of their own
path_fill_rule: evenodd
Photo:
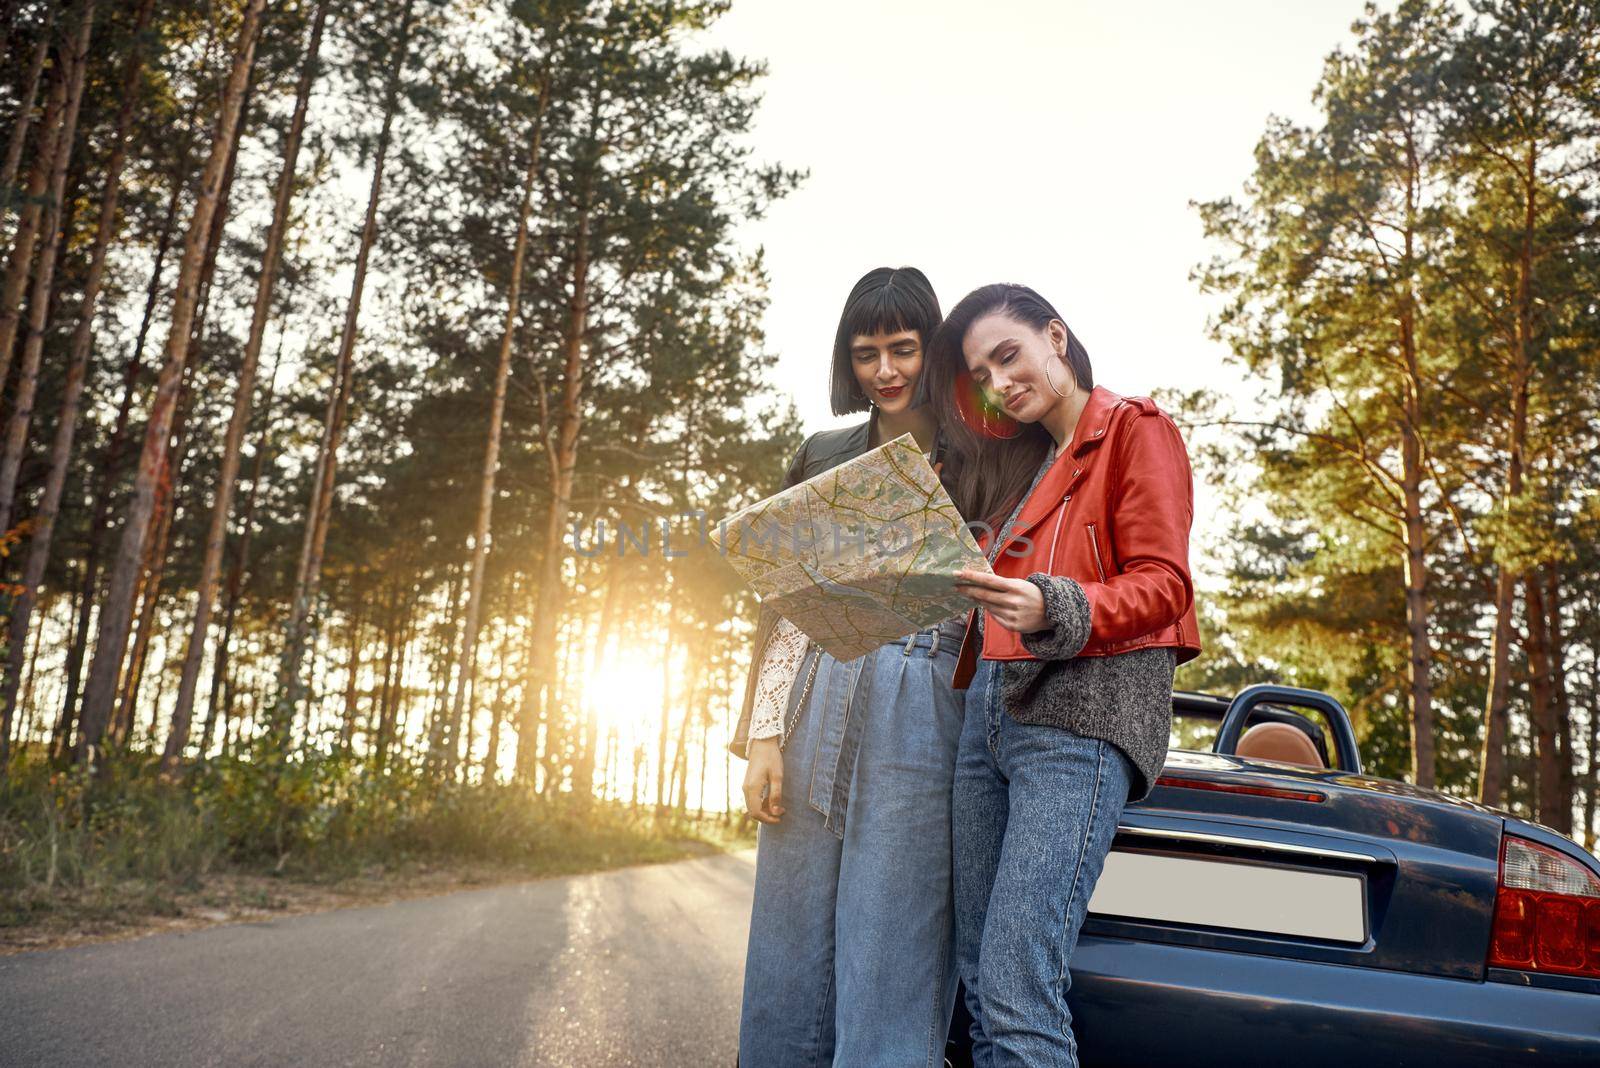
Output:
<svg viewBox="0 0 1600 1068">
<path fill-rule="evenodd" d="M 1258 400 L 1171 398 L 1235 515 L 1187 681 L 1328 689 L 1379 774 L 1594 849 L 1600 10 L 1406 0 L 1352 37 L 1317 122 L 1195 205 Z"/>
</svg>

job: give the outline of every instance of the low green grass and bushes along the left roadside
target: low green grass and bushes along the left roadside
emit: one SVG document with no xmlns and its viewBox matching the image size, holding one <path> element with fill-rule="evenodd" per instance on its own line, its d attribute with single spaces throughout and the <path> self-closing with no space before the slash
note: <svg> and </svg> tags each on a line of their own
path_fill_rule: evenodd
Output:
<svg viewBox="0 0 1600 1068">
<path fill-rule="evenodd" d="M 122 756 L 101 779 L 18 755 L 0 779 L 0 926 L 91 892 L 142 911 L 213 871 L 336 879 L 370 868 L 486 863 L 528 875 L 670 860 L 686 841 L 738 836 L 573 795 L 374 774 L 339 755 L 226 758 L 178 780 Z M 24 905 L 26 902 L 26 905 Z M 157 908 L 155 911 L 160 911 Z"/>
</svg>

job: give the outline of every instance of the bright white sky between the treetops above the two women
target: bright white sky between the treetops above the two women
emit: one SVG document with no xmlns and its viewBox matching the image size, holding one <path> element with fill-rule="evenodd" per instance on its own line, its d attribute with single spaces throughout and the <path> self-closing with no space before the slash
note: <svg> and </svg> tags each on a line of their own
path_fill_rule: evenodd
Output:
<svg viewBox="0 0 1600 1068">
<path fill-rule="evenodd" d="M 920 267 L 944 309 L 989 281 L 1034 286 L 1120 393 L 1253 393 L 1205 337 L 1189 201 L 1240 190 L 1267 115 L 1312 118 L 1362 6 L 734 0 L 712 40 L 768 62 L 757 153 L 811 171 L 747 235 L 806 430 L 859 419 L 830 414 L 827 361 L 850 286 L 878 265 Z M 1200 550 L 1224 518 L 1195 489 Z"/>
</svg>

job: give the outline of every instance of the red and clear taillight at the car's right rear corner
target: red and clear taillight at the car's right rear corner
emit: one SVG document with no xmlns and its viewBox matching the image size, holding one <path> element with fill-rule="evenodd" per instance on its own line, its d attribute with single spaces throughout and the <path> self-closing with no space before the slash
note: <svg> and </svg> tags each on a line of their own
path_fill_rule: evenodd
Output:
<svg viewBox="0 0 1600 1068">
<path fill-rule="evenodd" d="M 1600 978 L 1600 878 L 1571 857 L 1507 835 L 1488 962 Z"/>
</svg>

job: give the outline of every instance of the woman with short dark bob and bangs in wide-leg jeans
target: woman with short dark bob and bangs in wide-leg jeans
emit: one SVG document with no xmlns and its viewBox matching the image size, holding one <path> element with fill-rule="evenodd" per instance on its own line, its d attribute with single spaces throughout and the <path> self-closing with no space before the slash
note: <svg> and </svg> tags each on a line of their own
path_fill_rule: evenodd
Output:
<svg viewBox="0 0 1600 1068">
<path fill-rule="evenodd" d="M 808 436 L 784 488 L 902 433 L 950 476 L 923 389 L 938 325 L 920 270 L 878 267 L 856 283 L 834 339 L 832 403 L 867 419 Z M 747 1068 L 944 1063 L 963 633 L 957 614 L 840 662 L 762 609 L 730 747 L 749 756 L 744 798 L 762 823 L 739 1015 Z"/>
</svg>

